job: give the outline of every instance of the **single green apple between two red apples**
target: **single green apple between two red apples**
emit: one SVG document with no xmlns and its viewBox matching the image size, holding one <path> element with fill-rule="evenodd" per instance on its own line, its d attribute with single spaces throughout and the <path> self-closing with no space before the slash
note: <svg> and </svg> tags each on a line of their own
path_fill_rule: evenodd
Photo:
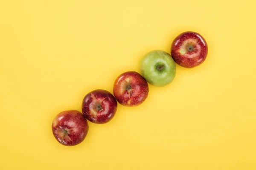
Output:
<svg viewBox="0 0 256 170">
<path fill-rule="evenodd" d="M 169 53 L 162 50 L 154 50 L 148 52 L 141 59 L 140 71 L 149 84 L 165 86 L 175 78 L 176 65 Z"/>
</svg>

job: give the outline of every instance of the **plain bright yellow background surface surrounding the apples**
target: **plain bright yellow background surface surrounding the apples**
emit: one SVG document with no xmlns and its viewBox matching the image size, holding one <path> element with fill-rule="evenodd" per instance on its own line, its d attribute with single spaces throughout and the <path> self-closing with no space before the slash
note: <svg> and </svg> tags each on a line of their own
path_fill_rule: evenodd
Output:
<svg viewBox="0 0 256 170">
<path fill-rule="evenodd" d="M 254 0 L 0 0 L 0 170 L 256 170 Z M 52 135 L 56 114 L 113 93 L 148 51 L 183 31 L 206 39 L 136 107 L 89 122 L 81 144 Z"/>
</svg>

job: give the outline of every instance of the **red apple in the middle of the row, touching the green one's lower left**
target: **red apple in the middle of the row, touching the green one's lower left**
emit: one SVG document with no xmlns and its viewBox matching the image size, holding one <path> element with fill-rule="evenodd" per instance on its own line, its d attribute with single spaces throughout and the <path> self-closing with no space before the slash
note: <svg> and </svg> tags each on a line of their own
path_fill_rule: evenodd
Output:
<svg viewBox="0 0 256 170">
<path fill-rule="evenodd" d="M 148 97 L 148 83 L 136 71 L 127 71 L 116 78 L 113 94 L 123 106 L 138 106 Z"/>
</svg>

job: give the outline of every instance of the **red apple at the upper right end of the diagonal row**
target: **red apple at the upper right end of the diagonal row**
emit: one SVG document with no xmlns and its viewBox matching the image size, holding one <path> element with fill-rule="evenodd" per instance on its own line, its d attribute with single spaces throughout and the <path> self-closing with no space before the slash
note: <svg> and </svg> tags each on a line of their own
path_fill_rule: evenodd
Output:
<svg viewBox="0 0 256 170">
<path fill-rule="evenodd" d="M 207 42 L 196 32 L 179 34 L 172 42 L 171 55 L 174 61 L 185 68 L 201 65 L 208 54 Z"/>
</svg>

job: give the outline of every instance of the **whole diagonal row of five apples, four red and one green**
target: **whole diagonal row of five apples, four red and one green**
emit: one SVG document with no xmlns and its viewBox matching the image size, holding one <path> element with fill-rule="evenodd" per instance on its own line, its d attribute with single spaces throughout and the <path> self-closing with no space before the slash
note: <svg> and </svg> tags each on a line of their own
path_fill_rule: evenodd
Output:
<svg viewBox="0 0 256 170">
<path fill-rule="evenodd" d="M 162 50 L 145 54 L 140 62 L 141 74 L 127 71 L 119 75 L 113 84 L 113 94 L 96 89 L 84 96 L 82 113 L 77 110 L 58 113 L 52 121 L 55 139 L 65 146 L 83 142 L 89 130 L 87 120 L 95 124 L 111 121 L 117 111 L 117 102 L 127 107 L 142 104 L 148 97 L 148 83 L 168 85 L 176 75 L 175 63 L 194 68 L 204 62 L 207 53 L 207 42 L 201 34 L 192 31 L 179 34 L 172 42 L 170 54 Z"/>
</svg>

